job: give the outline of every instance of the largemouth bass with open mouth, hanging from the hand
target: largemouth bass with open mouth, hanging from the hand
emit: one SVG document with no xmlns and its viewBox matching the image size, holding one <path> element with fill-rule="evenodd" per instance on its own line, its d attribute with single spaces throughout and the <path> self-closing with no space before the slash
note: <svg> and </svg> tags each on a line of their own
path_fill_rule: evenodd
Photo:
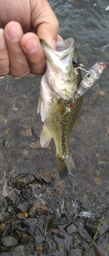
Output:
<svg viewBox="0 0 109 256">
<path fill-rule="evenodd" d="M 83 96 L 73 98 L 81 81 L 81 73 L 75 73 L 79 60 L 73 38 L 57 42 L 52 49 L 44 41 L 41 46 L 46 55 L 46 72 L 41 79 L 38 113 L 44 122 L 40 143 L 46 147 L 51 138 L 56 145 L 58 172 L 61 179 L 74 175 L 76 167 L 69 149 L 72 127 L 79 124 L 78 112 Z"/>
</svg>

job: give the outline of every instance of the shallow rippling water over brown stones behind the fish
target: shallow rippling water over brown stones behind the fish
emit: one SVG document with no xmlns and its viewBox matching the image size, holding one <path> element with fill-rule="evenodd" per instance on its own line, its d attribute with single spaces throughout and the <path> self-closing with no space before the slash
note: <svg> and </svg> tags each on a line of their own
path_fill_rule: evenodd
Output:
<svg viewBox="0 0 109 256">
<path fill-rule="evenodd" d="M 49 4 L 59 19 L 60 35 L 64 39 L 74 38 L 80 63 L 87 70 L 96 61 L 109 61 L 109 11 L 105 11 L 107 0 L 50 0 Z M 4 200 L 5 189 L 10 185 L 12 173 L 30 173 L 37 176 L 41 169 L 47 169 L 56 179 L 50 185 L 53 197 L 47 198 L 50 214 L 52 212 L 60 218 L 70 212 L 71 218 L 66 225 L 72 219 L 76 224 L 77 219 L 82 220 L 83 217 L 89 218 L 90 222 L 101 217 L 109 220 L 109 65 L 106 66 L 98 82 L 85 94 L 79 115 L 81 123 L 71 132 L 70 147 L 77 177 L 68 177 L 64 183 L 60 183 L 58 176 L 55 144 L 51 140 L 49 148 L 41 148 L 38 143 L 43 125 L 40 115 L 37 115 L 41 76 L 29 74 L 18 80 L 6 76 L 0 81 L 0 180 L 3 179 L 5 171 L 7 181 L 3 190 Z M 3 182 L 0 185 L 2 194 Z M 38 190 L 38 194 L 46 194 L 44 186 Z M 66 197 L 59 193 L 62 188 L 67 193 Z M 17 189 L 20 191 L 21 188 Z M 57 189 L 58 192 L 54 192 Z M 8 206 L 1 206 L 1 209 L 5 209 L 5 212 L 13 211 Z M 43 218 L 41 223 L 44 223 Z M 65 234 L 62 228 L 61 232 Z M 55 239 L 57 242 L 57 238 Z M 66 239 L 69 240 L 69 237 Z M 62 255 L 61 252 L 58 253 L 53 255 Z M 71 250 L 71 254 L 66 252 L 66 255 L 72 253 L 83 255 L 78 249 Z M 106 254 L 106 251 L 103 253 Z M 105 255 L 103 253 L 102 256 Z"/>
</svg>

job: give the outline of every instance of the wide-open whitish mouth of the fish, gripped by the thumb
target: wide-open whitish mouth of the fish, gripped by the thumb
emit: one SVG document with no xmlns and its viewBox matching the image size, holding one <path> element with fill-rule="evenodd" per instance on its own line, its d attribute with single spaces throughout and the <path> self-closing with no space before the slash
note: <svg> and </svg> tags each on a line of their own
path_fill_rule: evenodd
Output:
<svg viewBox="0 0 109 256">
<path fill-rule="evenodd" d="M 50 47 L 45 41 L 40 40 L 42 49 L 44 50 L 44 53 L 46 57 L 48 57 L 49 54 L 53 53 L 56 56 L 58 56 L 61 59 L 65 58 L 68 56 L 73 50 L 75 49 L 74 47 L 74 39 L 73 38 L 68 38 L 64 41 L 57 41 L 56 42 L 56 50 L 54 50 L 52 47 Z"/>
</svg>

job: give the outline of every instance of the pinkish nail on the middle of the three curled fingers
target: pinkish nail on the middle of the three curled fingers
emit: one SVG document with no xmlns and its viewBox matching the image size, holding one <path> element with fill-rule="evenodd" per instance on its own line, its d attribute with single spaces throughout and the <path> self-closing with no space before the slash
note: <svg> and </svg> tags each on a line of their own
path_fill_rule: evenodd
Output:
<svg viewBox="0 0 109 256">
<path fill-rule="evenodd" d="M 19 41 L 20 38 L 21 38 L 21 29 L 20 29 L 19 26 L 13 25 L 13 26 L 10 28 L 8 34 L 9 34 L 9 37 L 10 37 L 10 39 L 11 39 L 12 41 L 16 41 L 16 42 L 17 42 L 17 41 Z"/>
</svg>

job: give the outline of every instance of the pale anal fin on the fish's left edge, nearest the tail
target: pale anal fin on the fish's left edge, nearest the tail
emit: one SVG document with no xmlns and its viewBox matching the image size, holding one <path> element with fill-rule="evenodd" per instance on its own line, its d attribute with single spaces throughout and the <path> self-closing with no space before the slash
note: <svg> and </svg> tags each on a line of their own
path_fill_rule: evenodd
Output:
<svg viewBox="0 0 109 256">
<path fill-rule="evenodd" d="M 52 138 L 51 135 L 49 134 L 48 130 L 44 125 L 43 130 L 41 132 L 41 137 L 40 137 L 41 146 L 46 147 L 49 144 L 51 138 Z"/>
</svg>

